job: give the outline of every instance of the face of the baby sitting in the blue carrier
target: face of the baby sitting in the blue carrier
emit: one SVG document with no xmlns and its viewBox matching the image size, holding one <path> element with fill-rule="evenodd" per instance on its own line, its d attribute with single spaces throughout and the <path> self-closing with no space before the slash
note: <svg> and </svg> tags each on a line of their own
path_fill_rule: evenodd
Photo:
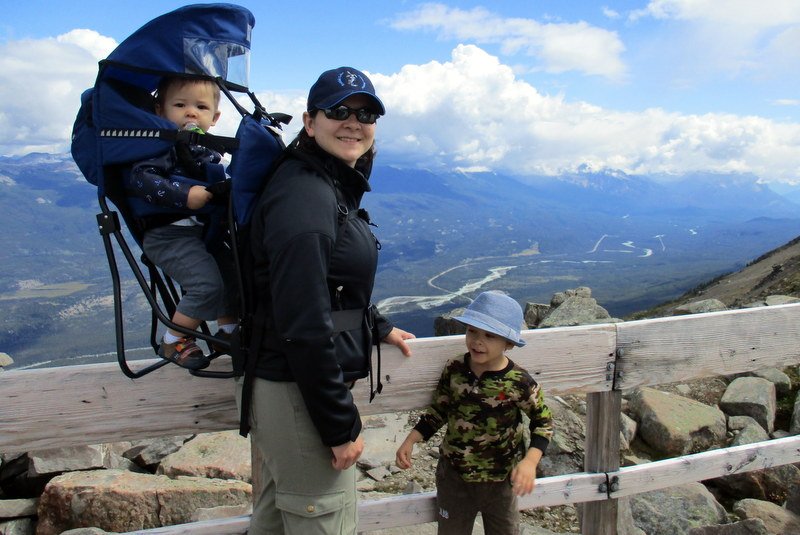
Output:
<svg viewBox="0 0 800 535">
<path fill-rule="evenodd" d="M 219 111 L 214 101 L 214 88 L 211 82 L 187 82 L 172 84 L 156 112 L 184 128 L 195 123 L 207 132 L 219 119 Z"/>
</svg>

